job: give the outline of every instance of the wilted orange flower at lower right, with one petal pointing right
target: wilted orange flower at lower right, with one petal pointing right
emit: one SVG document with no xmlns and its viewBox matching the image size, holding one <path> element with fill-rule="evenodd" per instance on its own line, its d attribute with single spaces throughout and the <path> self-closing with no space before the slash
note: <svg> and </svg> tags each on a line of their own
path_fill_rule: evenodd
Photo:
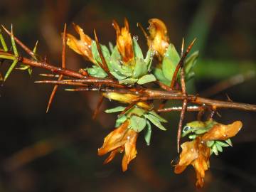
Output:
<svg viewBox="0 0 256 192">
<path fill-rule="evenodd" d="M 203 136 L 196 137 L 191 142 L 185 142 L 181 145 L 182 152 L 178 164 L 175 166 L 174 172 L 181 174 L 186 167 L 191 164 L 196 171 L 196 186 L 203 186 L 203 178 L 205 171 L 210 166 L 210 147 L 206 145 L 208 141 L 227 140 L 234 137 L 242 128 L 242 122 L 236 121 L 232 124 L 214 124 L 212 128 Z"/>
</svg>

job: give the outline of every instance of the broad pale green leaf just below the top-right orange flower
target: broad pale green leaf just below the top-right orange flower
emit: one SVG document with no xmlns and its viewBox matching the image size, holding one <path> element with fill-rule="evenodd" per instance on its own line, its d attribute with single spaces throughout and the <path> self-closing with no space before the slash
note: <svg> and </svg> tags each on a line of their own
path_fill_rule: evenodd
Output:
<svg viewBox="0 0 256 192">
<path fill-rule="evenodd" d="M 171 80 L 174 76 L 174 71 L 176 69 L 176 65 L 178 64 L 180 57 L 178 52 L 173 44 L 167 48 L 166 53 L 164 55 L 164 60 L 162 63 L 162 70 L 164 73 L 164 77 L 168 80 Z"/>
</svg>

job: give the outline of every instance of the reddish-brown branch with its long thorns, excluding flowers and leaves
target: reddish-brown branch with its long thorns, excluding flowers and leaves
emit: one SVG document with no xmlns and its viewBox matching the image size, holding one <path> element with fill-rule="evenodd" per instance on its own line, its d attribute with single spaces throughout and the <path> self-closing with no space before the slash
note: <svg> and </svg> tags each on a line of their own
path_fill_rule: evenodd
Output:
<svg viewBox="0 0 256 192">
<path fill-rule="evenodd" d="M 3 27 L 4 28 L 4 27 Z M 66 28 L 66 27 L 65 27 Z M 100 58 L 102 59 L 102 63 L 100 65 L 105 70 L 105 72 L 110 76 L 110 78 L 95 78 L 90 75 L 82 74 L 80 72 L 76 72 L 75 70 L 69 70 L 65 67 L 65 34 L 66 30 L 64 28 L 63 33 L 63 52 L 62 52 L 62 67 L 55 67 L 55 65 L 52 65 L 50 63 L 47 63 L 46 60 L 38 60 L 36 59 L 35 53 L 33 53 L 32 50 L 30 50 L 27 46 L 25 46 L 21 41 L 18 40 L 14 36 L 14 40 L 16 43 L 18 43 L 23 50 L 26 51 L 29 55 L 31 55 L 32 59 L 22 57 L 21 55 L 18 56 L 18 61 L 20 63 L 23 63 L 24 65 L 29 65 L 34 68 L 43 68 L 45 70 L 50 71 L 51 73 L 58 75 L 58 80 L 41 80 L 36 81 L 40 83 L 46 83 L 46 84 L 53 84 L 55 87 L 53 88 L 53 92 L 50 95 L 50 100 L 48 103 L 47 111 L 50 107 L 50 104 L 53 100 L 53 96 L 55 95 L 55 91 L 58 87 L 58 85 L 72 85 L 77 88 L 74 89 L 66 89 L 69 91 L 97 91 L 97 92 L 119 92 L 124 94 L 132 94 L 136 95 L 137 98 L 132 101 L 132 103 L 127 107 L 129 109 L 130 107 L 136 105 L 139 101 L 147 102 L 149 100 L 182 100 L 183 105 L 182 107 L 170 107 L 170 108 L 159 108 L 159 110 L 156 110 L 157 112 L 171 112 L 171 111 L 181 111 L 181 117 L 180 122 L 178 124 L 178 151 L 179 151 L 179 143 L 180 143 L 180 137 L 181 137 L 181 127 L 183 122 L 183 117 L 186 111 L 197 111 L 200 112 L 202 110 L 205 110 L 208 106 L 210 109 L 224 109 L 224 108 L 233 108 L 237 110 L 247 110 L 247 111 L 255 111 L 256 112 L 256 105 L 251 104 L 245 104 L 245 103 L 238 103 L 238 102 L 230 102 L 230 101 L 219 101 L 219 100 L 211 100 L 203 97 L 199 97 L 198 95 L 187 95 L 186 93 L 186 85 L 184 80 L 184 69 L 183 69 L 183 61 L 186 58 L 186 55 L 188 54 L 189 50 L 191 50 L 191 47 L 193 46 L 193 43 L 196 41 L 196 39 L 188 46 L 185 53 L 183 53 L 183 45 L 182 45 L 182 51 L 181 51 L 181 60 L 179 61 L 178 65 L 176 66 L 176 70 L 174 72 L 174 77 L 171 80 L 171 86 L 168 87 L 164 85 L 163 83 L 156 81 L 156 83 L 161 87 L 163 90 L 154 90 L 151 88 L 145 88 L 141 86 L 133 86 L 129 87 L 127 85 L 121 85 L 117 80 L 114 80 L 112 75 L 110 74 L 107 64 L 105 61 L 105 58 L 102 55 L 102 51 L 100 48 L 100 43 L 97 41 L 97 36 L 95 33 L 95 39 L 97 43 L 97 48 L 100 53 Z M 4 28 L 4 31 L 6 31 L 9 36 L 11 36 L 11 33 Z M 6 52 L 0 48 L 0 55 L 1 58 L 15 58 L 15 55 L 12 53 Z M 174 90 L 174 85 L 176 83 L 176 77 L 178 75 L 178 71 L 181 69 L 181 90 Z M 52 76 L 51 74 L 48 74 L 46 76 Z M 63 80 L 63 77 L 66 79 Z M 97 107 L 100 107 L 100 103 L 102 102 L 102 99 L 100 99 L 99 105 Z M 189 104 L 193 104 L 195 106 L 189 106 Z M 188 106 L 187 106 L 188 105 Z M 95 111 L 95 115 L 97 114 L 97 110 Z M 94 117 L 95 117 L 94 115 Z"/>
</svg>

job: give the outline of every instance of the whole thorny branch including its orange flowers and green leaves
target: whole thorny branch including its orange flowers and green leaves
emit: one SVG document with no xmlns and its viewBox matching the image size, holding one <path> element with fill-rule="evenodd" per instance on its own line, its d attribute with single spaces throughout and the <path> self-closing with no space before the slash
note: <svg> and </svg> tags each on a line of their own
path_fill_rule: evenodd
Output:
<svg viewBox="0 0 256 192">
<path fill-rule="evenodd" d="M 194 64 L 193 62 L 198 56 L 198 53 L 195 52 L 196 54 L 191 54 L 191 56 L 187 59 L 186 56 L 190 52 L 196 38 L 192 41 L 188 48 L 186 48 L 185 52 L 183 52 L 183 40 L 181 45 L 181 54 L 179 55 L 175 50 L 175 47 L 169 43 L 169 37 L 166 36 L 167 29 L 165 24 L 157 18 L 150 19 L 149 23 L 149 36 L 146 31 L 144 31 L 141 24 L 137 23 L 137 26 L 142 29 L 149 46 L 148 53 L 146 53 L 146 58 L 144 58 L 142 50 L 137 44 L 137 40 L 132 39 L 132 36 L 129 33 L 129 23 L 126 18 L 124 19 L 124 28 L 119 28 L 118 23 L 113 21 L 113 26 L 117 32 L 117 46 L 115 47 L 116 49 L 114 49 L 113 46 L 110 49 L 112 55 L 114 55 L 114 58 L 112 58 L 112 55 L 110 56 L 110 53 L 108 53 L 108 48 L 99 43 L 95 31 L 95 41 L 93 41 L 89 36 L 83 33 L 82 28 L 74 25 L 75 31 L 80 34 L 81 38 L 81 40 L 77 40 L 74 36 L 66 33 L 65 24 L 63 31 L 61 67 L 55 67 L 55 65 L 48 63 L 46 59 L 41 60 L 36 55 L 37 43 L 35 48 L 31 50 L 14 36 L 12 28 L 10 32 L 4 28 L 4 26 L 2 26 L 4 31 L 11 37 L 11 45 L 14 53 L 11 53 L 11 51 L 8 50 L 6 43 L 4 42 L 4 38 L 0 33 L 0 43 L 3 47 L 3 49 L 0 48 L 0 63 L 4 63 L 5 60 L 10 60 L 13 62 L 4 78 L 1 77 L 0 73 L 0 81 L 4 82 L 8 78 L 9 74 L 15 68 L 17 63 L 22 64 L 21 68 L 18 69 L 28 69 L 28 72 L 30 70 L 32 71 L 32 68 L 42 68 L 48 70 L 50 73 L 41 74 L 41 76 L 58 79 L 36 81 L 37 83 L 54 85 L 48 101 L 46 112 L 48 112 L 50 109 L 50 105 L 53 102 L 53 97 L 59 85 L 69 86 L 68 88 L 65 88 L 66 91 L 100 92 L 100 99 L 97 103 L 95 112 L 92 115 L 93 119 L 95 119 L 97 116 L 104 97 L 107 97 L 110 100 L 113 99 L 128 104 L 127 107 L 119 106 L 109 110 L 109 112 L 121 112 L 118 115 L 116 122 L 120 125 L 117 126 L 117 128 L 114 129 L 114 131 L 111 132 L 107 137 L 105 137 L 103 146 L 98 149 L 98 155 L 103 155 L 111 151 L 111 154 L 105 160 L 105 163 L 111 161 L 117 152 L 125 151 L 122 161 L 123 171 L 127 170 L 129 161 L 135 158 L 137 154 L 135 148 L 137 136 L 138 133 L 146 127 L 146 125 L 148 126 L 147 132 L 149 132 L 149 137 L 146 136 L 146 133 L 145 140 L 149 145 L 151 137 L 151 125 L 148 120 L 156 125 L 156 127 L 159 127 L 159 129 L 166 130 L 162 126 L 161 122 L 167 121 L 156 114 L 156 112 L 181 112 L 178 122 L 177 151 L 178 153 L 180 152 L 180 146 L 183 150 L 180 154 L 178 164 L 175 165 L 174 172 L 176 174 L 180 174 L 184 169 L 186 169 L 188 164 L 191 164 L 194 166 L 197 173 L 196 186 L 203 186 L 204 171 L 206 171 L 209 166 L 208 159 L 210 156 L 210 151 L 218 154 L 218 151 L 222 151 L 222 146 L 232 146 L 229 138 L 235 136 L 235 134 L 237 134 L 242 127 L 242 122 L 240 121 L 236 121 L 233 122 L 233 124 L 228 125 L 217 123 L 213 120 L 214 114 L 218 114 L 217 110 L 228 108 L 256 112 L 256 105 L 238 103 L 231 100 L 211 100 L 200 97 L 199 95 L 188 94 L 186 92 L 186 75 L 188 75 L 189 72 L 189 70 L 187 71 L 189 68 L 186 68 L 189 66 L 187 64 L 187 60 L 189 60 L 189 58 L 191 59 L 190 65 L 192 68 Z M 31 56 L 31 58 L 26 58 L 18 54 L 16 43 L 21 46 L 21 48 L 23 48 L 23 50 L 25 50 L 25 52 Z M 95 44 L 92 45 L 92 43 Z M 72 48 L 75 52 L 94 63 L 95 68 L 90 68 L 91 71 L 89 71 L 89 69 L 80 69 L 78 72 L 66 68 L 66 45 L 70 46 L 70 48 Z M 171 49 L 169 50 L 169 48 Z M 114 52 L 117 50 L 118 53 Z M 108 55 L 105 57 L 106 54 Z M 161 65 L 161 73 L 164 74 L 168 72 L 168 74 L 163 75 L 163 77 L 164 80 L 170 80 L 169 82 L 166 83 L 164 80 L 162 80 L 163 78 L 156 78 L 156 74 L 153 75 L 150 73 L 151 61 L 154 55 L 157 56 L 160 63 L 159 65 Z M 169 55 L 171 55 L 172 58 L 168 58 Z M 120 58 L 122 60 L 119 60 Z M 166 61 L 165 58 L 168 58 L 169 60 Z M 121 67 L 119 62 L 121 63 Z M 169 63 L 169 65 L 166 63 Z M 167 65 L 166 68 L 164 68 L 164 64 Z M 125 69 L 128 69 L 128 72 L 126 71 L 124 73 Z M 93 73 L 93 71 L 97 72 Z M 154 82 L 161 89 L 152 89 L 150 86 L 143 86 L 149 82 Z M 226 86 L 226 83 L 222 85 Z M 115 97 L 113 95 L 115 95 Z M 153 105 L 154 100 L 160 100 L 161 104 L 158 107 L 155 107 Z M 182 105 L 178 107 L 164 108 L 166 102 L 169 100 L 180 100 Z M 208 121 L 202 122 L 201 117 L 206 111 L 210 112 Z M 198 112 L 198 119 L 200 121 L 188 123 L 191 125 L 191 127 L 186 124 L 182 131 L 182 137 L 184 137 L 186 134 L 193 133 L 188 137 L 189 139 L 193 139 L 193 141 L 184 142 L 181 145 L 181 130 L 186 112 Z M 122 117 L 125 118 L 124 121 L 122 121 Z M 202 124 L 203 127 L 201 127 Z M 226 144 L 220 142 L 220 140 L 225 141 Z M 112 144 L 114 146 L 111 146 Z M 42 145 L 36 145 L 34 149 L 38 149 L 41 146 Z M 33 153 L 34 149 L 26 149 L 25 153 Z M 34 154 L 34 156 L 41 155 L 43 154 Z M 18 157 L 20 156 L 22 155 L 18 154 Z M 26 163 L 27 161 L 31 161 L 31 159 L 33 159 L 33 156 L 23 162 Z M 186 161 L 182 159 L 186 159 Z M 190 161 L 190 163 L 187 161 Z"/>
</svg>

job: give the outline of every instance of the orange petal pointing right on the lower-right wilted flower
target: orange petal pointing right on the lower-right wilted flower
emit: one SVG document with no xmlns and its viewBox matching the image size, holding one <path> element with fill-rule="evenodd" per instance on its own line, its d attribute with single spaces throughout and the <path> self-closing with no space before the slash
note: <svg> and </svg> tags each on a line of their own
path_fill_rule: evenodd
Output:
<svg viewBox="0 0 256 192">
<path fill-rule="evenodd" d="M 242 128 L 242 122 L 236 121 L 233 124 L 215 124 L 206 134 L 203 134 L 203 141 L 227 140 L 234 137 Z"/>
</svg>

